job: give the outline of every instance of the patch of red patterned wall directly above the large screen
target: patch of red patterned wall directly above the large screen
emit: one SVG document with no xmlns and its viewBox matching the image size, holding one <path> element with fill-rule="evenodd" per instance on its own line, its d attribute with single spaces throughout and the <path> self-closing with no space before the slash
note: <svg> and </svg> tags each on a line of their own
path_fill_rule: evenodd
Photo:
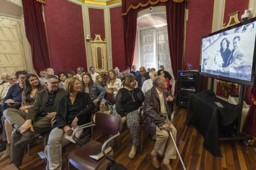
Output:
<svg viewBox="0 0 256 170">
<path fill-rule="evenodd" d="M 227 25 L 229 22 L 228 14 L 232 14 L 233 12 L 237 12 L 237 11 L 239 11 L 239 14 L 238 14 L 239 21 L 242 22 L 241 15 L 244 14 L 245 9 L 248 9 L 248 6 L 249 6 L 249 0 L 226 0 L 223 23 L 226 23 Z"/>
</svg>

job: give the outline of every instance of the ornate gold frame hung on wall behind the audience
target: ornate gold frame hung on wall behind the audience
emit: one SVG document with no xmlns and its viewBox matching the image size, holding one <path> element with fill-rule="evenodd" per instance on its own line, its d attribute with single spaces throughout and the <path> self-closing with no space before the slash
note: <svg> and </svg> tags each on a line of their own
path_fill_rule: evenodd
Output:
<svg viewBox="0 0 256 170">
<path fill-rule="evenodd" d="M 97 73 L 108 73 L 108 61 L 106 55 L 106 41 L 102 40 L 100 34 L 95 34 L 91 39 L 92 65 Z"/>
</svg>

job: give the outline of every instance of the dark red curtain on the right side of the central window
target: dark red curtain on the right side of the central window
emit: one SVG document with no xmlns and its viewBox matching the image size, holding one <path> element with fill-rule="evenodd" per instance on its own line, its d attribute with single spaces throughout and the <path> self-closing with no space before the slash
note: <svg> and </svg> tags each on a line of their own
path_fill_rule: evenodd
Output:
<svg viewBox="0 0 256 170">
<path fill-rule="evenodd" d="M 184 42 L 184 13 L 185 2 L 166 2 L 167 28 L 171 67 L 174 79 L 177 79 L 177 71 L 182 70 L 183 42 Z"/>
</svg>

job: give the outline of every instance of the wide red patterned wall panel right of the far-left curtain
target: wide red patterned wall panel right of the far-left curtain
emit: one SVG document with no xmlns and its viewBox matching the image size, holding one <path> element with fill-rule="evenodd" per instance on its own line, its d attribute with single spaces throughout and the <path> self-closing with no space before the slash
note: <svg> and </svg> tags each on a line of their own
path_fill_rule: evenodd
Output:
<svg viewBox="0 0 256 170">
<path fill-rule="evenodd" d="M 51 67 L 59 71 L 87 69 L 82 7 L 66 0 L 47 1 L 45 20 Z"/>
</svg>

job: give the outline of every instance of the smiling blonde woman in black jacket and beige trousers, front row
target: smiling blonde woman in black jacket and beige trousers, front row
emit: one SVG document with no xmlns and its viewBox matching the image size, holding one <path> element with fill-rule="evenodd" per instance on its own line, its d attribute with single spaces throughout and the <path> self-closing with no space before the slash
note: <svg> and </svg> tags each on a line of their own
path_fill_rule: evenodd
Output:
<svg viewBox="0 0 256 170">
<path fill-rule="evenodd" d="M 45 147 L 46 169 L 61 169 L 62 147 L 71 143 L 66 135 L 71 136 L 75 127 L 91 121 L 95 105 L 88 94 L 80 92 L 80 84 L 78 78 L 66 80 L 64 89 L 67 94 L 59 100 L 56 127 L 49 134 Z"/>
</svg>

